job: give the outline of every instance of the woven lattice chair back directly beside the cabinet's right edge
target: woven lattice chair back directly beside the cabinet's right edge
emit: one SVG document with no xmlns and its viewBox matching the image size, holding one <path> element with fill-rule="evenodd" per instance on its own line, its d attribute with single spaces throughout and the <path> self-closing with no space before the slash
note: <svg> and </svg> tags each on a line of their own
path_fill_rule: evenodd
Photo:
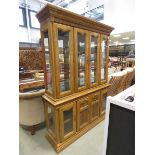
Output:
<svg viewBox="0 0 155 155">
<path fill-rule="evenodd" d="M 108 91 L 108 96 L 115 96 L 116 94 L 119 93 L 120 91 L 120 83 L 124 79 L 124 76 L 112 76 L 109 83 L 111 84 L 111 87 Z"/>
</svg>

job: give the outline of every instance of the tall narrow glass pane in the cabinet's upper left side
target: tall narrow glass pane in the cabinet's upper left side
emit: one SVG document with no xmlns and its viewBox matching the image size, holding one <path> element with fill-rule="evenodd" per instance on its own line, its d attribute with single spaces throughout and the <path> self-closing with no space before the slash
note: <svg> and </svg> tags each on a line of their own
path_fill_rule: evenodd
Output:
<svg viewBox="0 0 155 155">
<path fill-rule="evenodd" d="M 45 48 L 45 59 L 46 59 L 46 74 L 47 74 L 47 90 L 52 92 L 52 73 L 51 73 L 51 59 L 48 45 L 48 32 L 44 32 L 44 48 Z"/>
</svg>

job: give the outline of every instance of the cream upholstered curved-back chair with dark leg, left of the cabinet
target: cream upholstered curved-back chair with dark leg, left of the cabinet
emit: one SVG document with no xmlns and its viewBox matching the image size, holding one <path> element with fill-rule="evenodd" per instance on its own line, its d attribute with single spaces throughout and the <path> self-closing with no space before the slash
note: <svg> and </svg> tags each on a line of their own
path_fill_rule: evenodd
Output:
<svg viewBox="0 0 155 155">
<path fill-rule="evenodd" d="M 19 123 L 29 126 L 31 134 L 35 134 L 35 125 L 45 121 L 42 95 L 45 90 L 19 93 Z"/>
</svg>

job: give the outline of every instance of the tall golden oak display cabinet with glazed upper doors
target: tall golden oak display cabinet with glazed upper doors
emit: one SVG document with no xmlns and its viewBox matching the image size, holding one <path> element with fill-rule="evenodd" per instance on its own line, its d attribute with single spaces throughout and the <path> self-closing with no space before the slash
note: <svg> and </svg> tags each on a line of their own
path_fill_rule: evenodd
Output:
<svg viewBox="0 0 155 155">
<path fill-rule="evenodd" d="M 113 28 L 49 4 L 37 18 L 45 58 L 46 137 L 60 152 L 104 119 Z"/>
</svg>

